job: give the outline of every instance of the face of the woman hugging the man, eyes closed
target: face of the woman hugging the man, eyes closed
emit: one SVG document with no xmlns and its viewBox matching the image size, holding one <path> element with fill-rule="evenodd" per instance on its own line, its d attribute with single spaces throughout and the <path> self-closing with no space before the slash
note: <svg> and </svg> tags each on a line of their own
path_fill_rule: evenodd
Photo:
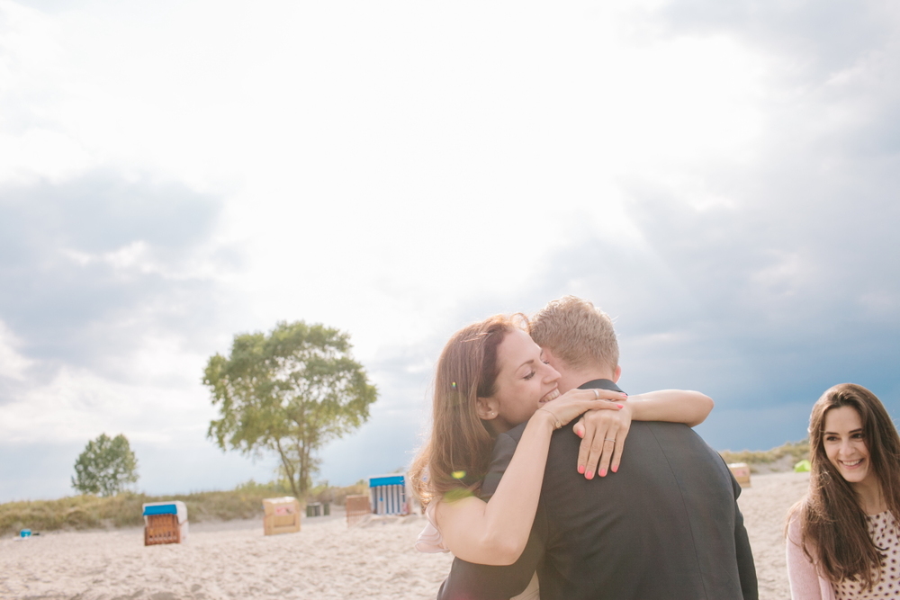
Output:
<svg viewBox="0 0 900 600">
<path fill-rule="evenodd" d="M 544 362 L 541 348 L 521 329 L 510 331 L 497 346 L 495 428 L 508 431 L 525 423 L 545 402 L 556 399 L 559 372 Z"/>
</svg>

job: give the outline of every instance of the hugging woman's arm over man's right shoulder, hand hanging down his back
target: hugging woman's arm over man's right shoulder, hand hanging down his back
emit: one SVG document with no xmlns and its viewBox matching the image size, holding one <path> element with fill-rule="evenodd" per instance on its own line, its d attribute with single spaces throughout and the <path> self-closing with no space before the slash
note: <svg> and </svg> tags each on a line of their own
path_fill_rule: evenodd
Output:
<svg viewBox="0 0 900 600">
<path fill-rule="evenodd" d="M 703 423 L 713 409 L 713 399 L 698 391 L 659 390 L 631 396 L 623 410 L 603 414 L 592 410 L 572 428 L 581 437 L 578 472 L 592 479 L 616 472 L 631 422 L 669 421 L 693 427 Z M 596 471 L 595 471 L 596 469 Z"/>
</svg>

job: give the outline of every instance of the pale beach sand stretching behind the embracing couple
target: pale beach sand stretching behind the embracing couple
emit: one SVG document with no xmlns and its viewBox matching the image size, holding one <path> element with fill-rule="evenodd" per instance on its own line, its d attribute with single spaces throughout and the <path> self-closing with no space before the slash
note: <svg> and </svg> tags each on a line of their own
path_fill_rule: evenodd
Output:
<svg viewBox="0 0 900 600">
<path fill-rule="evenodd" d="M 743 490 L 761 600 L 789 597 L 781 529 L 807 481 L 806 473 L 755 475 Z M 412 548 L 422 523 L 410 516 L 348 529 L 336 514 L 273 536 L 263 535 L 262 519 L 201 523 L 183 544 L 149 547 L 139 528 L 6 537 L 0 598 L 434 598 L 451 557 Z"/>
</svg>

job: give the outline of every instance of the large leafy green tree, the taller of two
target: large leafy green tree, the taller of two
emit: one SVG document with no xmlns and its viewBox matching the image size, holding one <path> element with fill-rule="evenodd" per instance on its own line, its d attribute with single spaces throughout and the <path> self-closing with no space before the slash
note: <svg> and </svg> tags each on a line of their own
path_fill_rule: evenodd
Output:
<svg viewBox="0 0 900 600">
<path fill-rule="evenodd" d="M 223 451 L 275 452 L 302 497 L 318 470 L 314 453 L 365 423 L 377 398 L 349 339 L 303 321 L 280 322 L 268 336 L 234 336 L 231 354 L 212 356 L 203 374 L 220 411 L 207 436 Z"/>
</svg>

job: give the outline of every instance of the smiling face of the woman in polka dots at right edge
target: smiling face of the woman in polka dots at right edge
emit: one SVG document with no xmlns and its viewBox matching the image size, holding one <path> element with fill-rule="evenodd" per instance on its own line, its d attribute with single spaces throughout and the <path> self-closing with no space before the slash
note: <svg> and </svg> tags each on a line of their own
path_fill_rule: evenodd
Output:
<svg viewBox="0 0 900 600">
<path fill-rule="evenodd" d="M 862 419 L 856 408 L 832 408 L 825 413 L 822 443 L 825 456 L 843 479 L 851 484 L 868 484 L 874 480 L 869 446 L 866 445 Z"/>
</svg>

